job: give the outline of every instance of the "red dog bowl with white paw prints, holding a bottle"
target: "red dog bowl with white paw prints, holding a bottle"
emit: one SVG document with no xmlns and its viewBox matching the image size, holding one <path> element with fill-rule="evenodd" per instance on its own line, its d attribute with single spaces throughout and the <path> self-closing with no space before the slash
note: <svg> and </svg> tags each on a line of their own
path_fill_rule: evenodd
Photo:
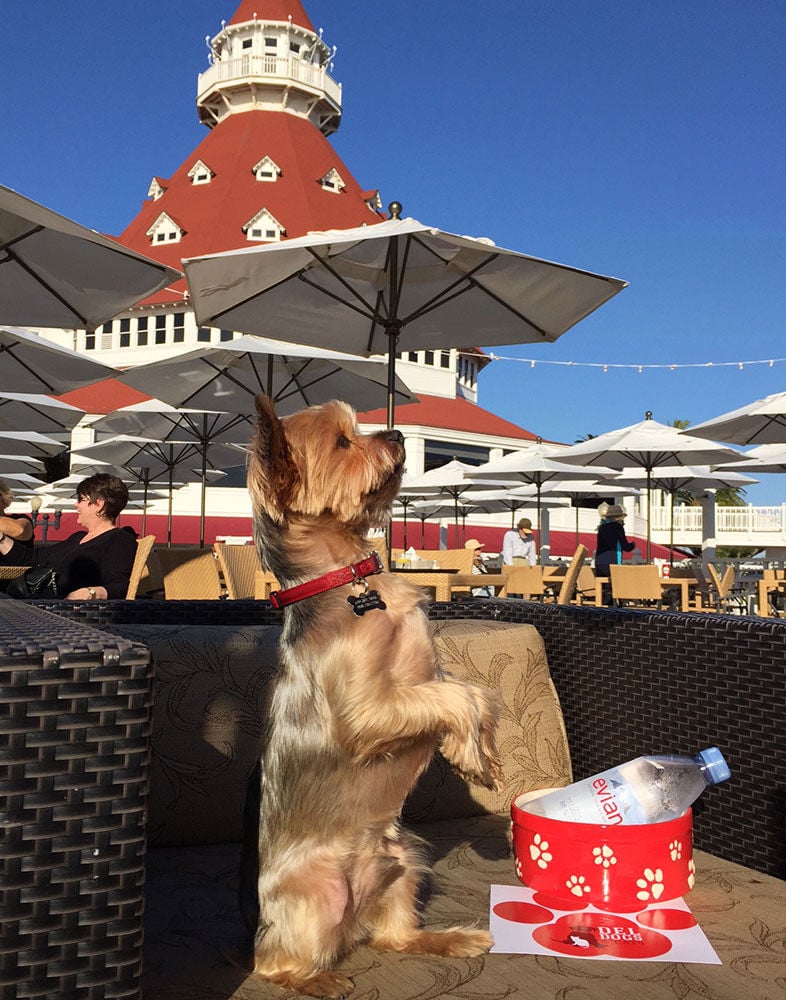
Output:
<svg viewBox="0 0 786 1000">
<path fill-rule="evenodd" d="M 521 882 L 564 909 L 593 903 L 634 909 L 693 887 L 693 813 L 665 823 L 605 826 L 548 819 L 511 805 L 513 857 Z"/>
</svg>

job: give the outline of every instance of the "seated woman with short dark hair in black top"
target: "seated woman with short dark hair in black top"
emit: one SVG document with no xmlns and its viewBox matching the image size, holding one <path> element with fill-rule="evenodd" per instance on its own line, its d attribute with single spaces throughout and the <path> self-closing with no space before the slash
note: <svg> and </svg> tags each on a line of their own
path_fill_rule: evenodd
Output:
<svg viewBox="0 0 786 1000">
<path fill-rule="evenodd" d="M 57 573 L 58 597 L 71 601 L 123 599 L 136 555 L 136 538 L 115 521 L 128 503 L 122 479 L 99 473 L 76 488 L 77 522 L 84 528 L 65 541 L 37 546 L 34 566 Z"/>
</svg>

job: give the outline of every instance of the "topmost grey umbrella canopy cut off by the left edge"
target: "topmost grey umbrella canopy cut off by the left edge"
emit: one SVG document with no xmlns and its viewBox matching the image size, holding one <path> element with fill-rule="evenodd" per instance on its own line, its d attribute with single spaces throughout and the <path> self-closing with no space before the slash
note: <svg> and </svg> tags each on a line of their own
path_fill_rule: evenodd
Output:
<svg viewBox="0 0 786 1000">
<path fill-rule="evenodd" d="M 0 186 L 0 323 L 94 330 L 180 277 Z"/>
</svg>

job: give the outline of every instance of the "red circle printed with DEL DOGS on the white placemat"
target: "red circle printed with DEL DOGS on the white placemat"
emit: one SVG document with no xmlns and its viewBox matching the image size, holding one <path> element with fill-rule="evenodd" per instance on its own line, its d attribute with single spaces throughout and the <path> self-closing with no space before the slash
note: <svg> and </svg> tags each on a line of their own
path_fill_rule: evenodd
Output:
<svg viewBox="0 0 786 1000">
<path fill-rule="evenodd" d="M 581 913 L 536 927 L 533 940 L 560 955 L 574 958 L 614 956 L 631 960 L 655 958 L 671 950 L 671 941 L 657 931 L 639 927 L 611 913 Z"/>
</svg>

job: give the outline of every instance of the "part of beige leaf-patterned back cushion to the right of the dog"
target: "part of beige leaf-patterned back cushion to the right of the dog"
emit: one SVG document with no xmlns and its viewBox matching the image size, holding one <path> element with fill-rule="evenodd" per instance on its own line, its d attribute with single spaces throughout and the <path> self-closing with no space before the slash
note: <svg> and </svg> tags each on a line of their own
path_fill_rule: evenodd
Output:
<svg viewBox="0 0 786 1000">
<path fill-rule="evenodd" d="M 570 751 L 546 651 L 532 625 L 459 619 L 433 623 L 443 668 L 455 677 L 499 689 L 503 710 L 497 741 L 503 785 L 490 792 L 470 785 L 437 755 L 404 808 L 405 819 L 431 822 L 507 815 L 521 792 L 570 784 Z"/>
</svg>

